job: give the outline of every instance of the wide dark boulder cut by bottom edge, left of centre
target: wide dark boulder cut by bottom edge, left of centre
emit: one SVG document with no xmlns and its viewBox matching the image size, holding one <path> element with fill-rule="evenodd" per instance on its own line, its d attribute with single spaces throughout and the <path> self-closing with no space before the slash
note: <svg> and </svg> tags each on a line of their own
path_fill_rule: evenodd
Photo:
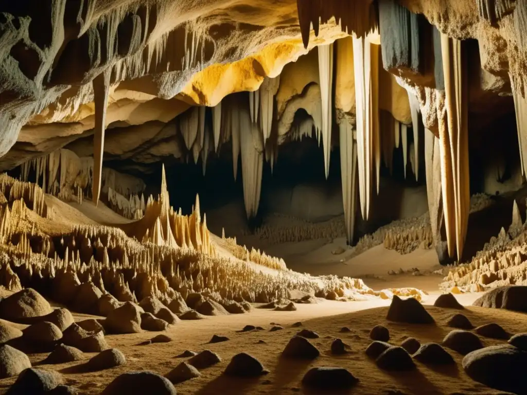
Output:
<svg viewBox="0 0 527 395">
<path fill-rule="evenodd" d="M 167 378 L 153 372 L 127 372 L 116 377 L 101 395 L 176 395 Z"/>
</svg>

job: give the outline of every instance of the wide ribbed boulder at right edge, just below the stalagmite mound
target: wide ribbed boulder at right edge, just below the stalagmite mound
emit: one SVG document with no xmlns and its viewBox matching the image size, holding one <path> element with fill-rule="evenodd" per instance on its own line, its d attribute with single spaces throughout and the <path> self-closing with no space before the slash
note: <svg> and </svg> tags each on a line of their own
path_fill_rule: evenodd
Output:
<svg viewBox="0 0 527 395">
<path fill-rule="evenodd" d="M 527 286 L 506 285 L 492 289 L 476 299 L 472 305 L 527 313 Z"/>
</svg>

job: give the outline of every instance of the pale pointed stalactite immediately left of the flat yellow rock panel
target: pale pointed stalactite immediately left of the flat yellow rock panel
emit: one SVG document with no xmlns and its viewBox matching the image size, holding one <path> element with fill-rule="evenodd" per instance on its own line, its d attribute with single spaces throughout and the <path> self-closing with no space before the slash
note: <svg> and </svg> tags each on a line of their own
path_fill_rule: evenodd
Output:
<svg viewBox="0 0 527 395">
<path fill-rule="evenodd" d="M 331 155 L 331 126 L 333 125 L 333 44 L 318 46 L 318 73 L 322 100 L 322 144 L 324 146 L 324 169 L 329 175 Z"/>
</svg>

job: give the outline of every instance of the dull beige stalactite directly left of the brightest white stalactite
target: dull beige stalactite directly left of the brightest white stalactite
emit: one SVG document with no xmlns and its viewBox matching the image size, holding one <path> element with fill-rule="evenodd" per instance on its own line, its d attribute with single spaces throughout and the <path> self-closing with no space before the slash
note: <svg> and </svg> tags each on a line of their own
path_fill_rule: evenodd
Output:
<svg viewBox="0 0 527 395">
<path fill-rule="evenodd" d="M 348 244 L 352 245 L 355 231 L 355 201 L 357 197 L 357 143 L 353 139 L 352 125 L 344 117 L 340 120 L 339 132 L 344 220 Z"/>
</svg>

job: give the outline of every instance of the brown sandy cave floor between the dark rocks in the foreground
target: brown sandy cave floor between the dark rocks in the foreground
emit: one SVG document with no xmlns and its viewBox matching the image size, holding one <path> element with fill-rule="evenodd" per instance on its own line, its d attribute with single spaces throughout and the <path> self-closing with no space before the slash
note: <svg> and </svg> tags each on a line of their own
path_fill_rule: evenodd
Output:
<svg viewBox="0 0 527 395">
<path fill-rule="evenodd" d="M 479 295 L 465 295 L 459 299 L 463 304 L 470 304 Z M 431 296 L 425 304 L 433 303 Z M 429 366 L 417 363 L 417 369 L 411 372 L 389 373 L 380 370 L 370 360 L 364 350 L 371 342 L 369 331 L 376 324 L 385 325 L 391 334 L 389 342 L 398 345 L 407 337 L 414 337 L 424 342 L 441 342 L 451 330 L 445 323 L 458 310 L 440 309 L 426 305 L 437 325 L 411 325 L 387 321 L 389 301 L 374 300 L 367 302 L 324 301 L 319 304 L 298 305 L 294 312 L 278 312 L 253 309 L 250 313 L 209 317 L 200 321 L 182 321 L 173 325 L 166 332 L 173 341 L 138 345 L 152 338 L 156 333 L 106 335 L 110 347 L 118 348 L 126 356 L 125 366 L 90 373 L 80 373 L 75 366 L 81 362 L 60 365 L 44 365 L 44 369 L 62 372 L 66 383 L 74 386 L 82 394 L 97 394 L 116 376 L 128 371 L 150 370 L 160 374 L 168 373 L 185 359 L 175 358 L 185 350 L 201 351 L 210 349 L 217 352 L 222 361 L 216 366 L 201 371 L 201 377 L 177 384 L 179 394 L 282 394 L 314 393 L 302 388 L 301 379 L 311 367 L 337 366 L 344 367 L 359 378 L 358 385 L 349 392 L 357 394 L 447 394 L 447 393 L 500 393 L 466 376 L 461 361 L 463 357 L 452 351 L 456 367 L 451 370 L 434 370 Z M 362 310 L 365 309 L 366 310 Z M 490 310 L 469 307 L 462 311 L 470 321 L 478 326 L 497 322 L 511 332 L 524 331 L 527 315 L 505 310 Z M 75 314 L 75 320 L 82 320 L 87 315 Z M 291 325 L 301 321 L 301 328 Z M 279 323 L 284 330 L 269 332 L 272 323 Z M 245 325 L 261 326 L 264 331 L 238 332 Z M 348 327 L 348 333 L 339 333 L 340 328 Z M 311 340 L 320 350 L 320 356 L 313 361 L 284 361 L 279 358 L 289 339 L 300 329 L 316 331 L 319 339 Z M 222 343 L 208 344 L 213 334 L 225 335 L 230 340 Z M 345 356 L 331 355 L 329 348 L 335 338 L 342 339 L 350 346 L 351 352 Z M 484 345 L 503 343 L 503 341 L 482 338 Z M 265 343 L 259 343 L 260 340 Z M 256 357 L 270 371 L 267 376 L 245 380 L 222 376 L 231 357 L 239 352 L 247 352 Z M 31 362 L 35 366 L 47 354 L 32 354 Z M 91 357 L 91 354 L 86 354 Z M 0 380 L 0 393 L 5 393 L 15 378 Z M 306 392 L 307 391 L 307 392 Z M 397 392 L 400 391 L 400 392 Z M 317 392 L 320 393 L 320 392 Z M 331 392 L 332 394 L 335 392 Z"/>
</svg>

